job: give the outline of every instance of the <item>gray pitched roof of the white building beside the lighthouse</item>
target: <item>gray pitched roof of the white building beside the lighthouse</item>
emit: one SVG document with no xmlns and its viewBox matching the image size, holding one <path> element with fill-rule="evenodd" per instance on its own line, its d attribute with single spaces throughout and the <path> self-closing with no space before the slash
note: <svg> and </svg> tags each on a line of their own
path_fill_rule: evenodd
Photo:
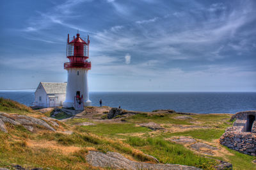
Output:
<svg viewBox="0 0 256 170">
<path fill-rule="evenodd" d="M 47 94 L 66 93 L 67 82 L 40 82 Z"/>
</svg>

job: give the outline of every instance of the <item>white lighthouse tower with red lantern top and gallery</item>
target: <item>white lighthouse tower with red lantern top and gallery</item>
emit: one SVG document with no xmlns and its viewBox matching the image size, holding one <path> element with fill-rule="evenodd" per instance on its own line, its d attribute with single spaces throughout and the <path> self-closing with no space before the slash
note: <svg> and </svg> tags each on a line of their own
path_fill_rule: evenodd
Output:
<svg viewBox="0 0 256 170">
<path fill-rule="evenodd" d="M 63 107 L 74 107 L 83 110 L 83 106 L 90 106 L 88 91 L 88 70 L 91 69 L 89 58 L 89 36 L 84 40 L 77 33 L 76 37 L 69 42 L 67 39 L 67 58 L 69 62 L 64 63 L 64 69 L 68 72 L 67 93 Z"/>
</svg>

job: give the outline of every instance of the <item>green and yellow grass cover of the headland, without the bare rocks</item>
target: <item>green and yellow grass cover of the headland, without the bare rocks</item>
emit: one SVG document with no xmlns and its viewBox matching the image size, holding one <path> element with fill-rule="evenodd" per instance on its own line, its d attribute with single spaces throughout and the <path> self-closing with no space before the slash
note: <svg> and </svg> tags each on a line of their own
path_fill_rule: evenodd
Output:
<svg viewBox="0 0 256 170">
<path fill-rule="evenodd" d="M 3 98 L 0 101 L 0 111 L 27 112 L 36 118 L 43 116 L 17 102 Z M 49 116 L 49 113 L 45 114 Z M 97 119 L 90 114 L 97 115 Z M 57 121 L 60 127 L 56 128 L 56 132 L 40 126 L 36 132 L 29 132 L 21 125 L 6 123 L 8 133 L 0 131 L 0 167 L 10 168 L 12 164 L 19 164 L 28 168 L 93 169 L 95 167 L 86 163 L 86 155 L 90 150 L 97 150 L 104 153 L 115 151 L 132 160 L 156 163 L 145 155 L 148 154 L 163 164 L 182 164 L 202 169 L 214 169 L 218 164 L 215 158 L 218 158 L 232 163 L 234 169 L 256 169 L 252 163 L 255 157 L 218 144 L 225 128 L 232 125 L 230 114 L 192 114 L 188 115 L 189 119 L 179 119 L 181 114 L 175 112 L 152 112 L 100 120 L 102 115 L 106 115 L 102 108 L 87 108 L 79 114 L 81 118 Z M 81 125 L 84 122 L 94 124 Z M 165 129 L 155 131 L 140 126 L 140 123 L 148 122 L 158 123 Z M 212 155 L 205 155 L 204 150 L 195 151 L 188 144 L 173 142 L 173 137 L 190 137 L 218 150 Z"/>
</svg>

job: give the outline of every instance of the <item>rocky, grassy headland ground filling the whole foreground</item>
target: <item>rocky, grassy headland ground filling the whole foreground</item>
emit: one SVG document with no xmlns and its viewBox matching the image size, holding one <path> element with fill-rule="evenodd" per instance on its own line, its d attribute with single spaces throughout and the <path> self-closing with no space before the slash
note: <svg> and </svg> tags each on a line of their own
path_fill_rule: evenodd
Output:
<svg viewBox="0 0 256 170">
<path fill-rule="evenodd" d="M 232 125 L 230 118 L 111 107 L 1 112 L 0 167 L 256 169 L 255 157 L 220 144 L 220 136 Z"/>
</svg>

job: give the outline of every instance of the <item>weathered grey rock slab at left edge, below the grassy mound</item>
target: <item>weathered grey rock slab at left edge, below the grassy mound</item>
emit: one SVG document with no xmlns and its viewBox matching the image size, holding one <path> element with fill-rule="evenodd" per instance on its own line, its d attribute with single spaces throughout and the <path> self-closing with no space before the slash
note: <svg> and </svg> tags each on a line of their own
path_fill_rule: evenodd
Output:
<svg viewBox="0 0 256 170">
<path fill-rule="evenodd" d="M 40 125 L 42 127 L 47 128 L 48 130 L 56 131 L 50 125 L 48 125 L 45 121 L 40 120 L 38 118 L 33 118 L 30 116 L 19 115 L 19 114 L 6 114 L 0 113 L 0 130 L 3 132 L 7 132 L 4 123 L 11 123 L 12 125 L 23 125 L 29 131 L 34 130 L 35 125 Z"/>
</svg>

